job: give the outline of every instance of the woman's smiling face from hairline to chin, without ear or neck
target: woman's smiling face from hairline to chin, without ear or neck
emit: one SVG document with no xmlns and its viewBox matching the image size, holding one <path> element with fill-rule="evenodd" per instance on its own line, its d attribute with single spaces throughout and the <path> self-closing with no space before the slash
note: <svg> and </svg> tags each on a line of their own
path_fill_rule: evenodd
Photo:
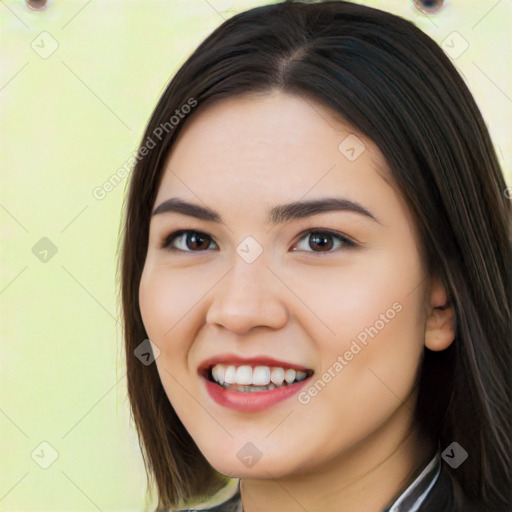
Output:
<svg viewBox="0 0 512 512">
<path fill-rule="evenodd" d="M 180 133 L 154 209 L 179 199 L 217 219 L 152 216 L 140 308 L 167 396 L 220 472 L 376 460 L 405 435 L 427 283 L 388 172 L 371 141 L 298 96 L 232 98 Z M 339 208 L 306 206 L 327 199 Z M 231 384 L 211 382 L 213 366 Z"/>
</svg>

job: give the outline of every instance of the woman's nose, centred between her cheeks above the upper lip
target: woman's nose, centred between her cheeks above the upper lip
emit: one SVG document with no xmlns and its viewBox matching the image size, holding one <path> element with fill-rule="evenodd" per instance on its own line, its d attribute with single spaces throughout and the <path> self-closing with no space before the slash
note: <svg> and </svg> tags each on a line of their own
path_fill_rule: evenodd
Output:
<svg viewBox="0 0 512 512">
<path fill-rule="evenodd" d="M 237 335 L 254 327 L 280 329 L 288 320 L 284 288 L 263 258 L 247 263 L 236 256 L 231 271 L 213 290 L 206 323 Z"/>
</svg>

